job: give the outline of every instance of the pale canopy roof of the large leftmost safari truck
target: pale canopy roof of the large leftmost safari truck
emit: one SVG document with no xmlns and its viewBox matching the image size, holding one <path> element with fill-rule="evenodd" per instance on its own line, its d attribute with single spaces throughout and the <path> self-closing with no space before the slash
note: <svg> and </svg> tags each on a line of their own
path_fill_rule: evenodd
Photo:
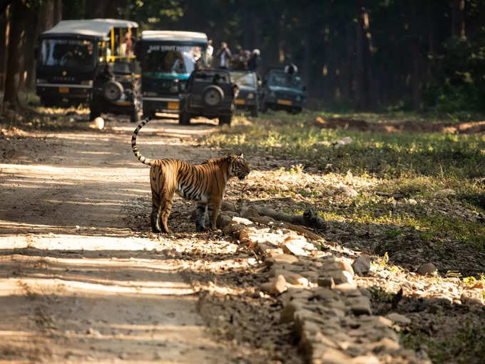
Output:
<svg viewBox="0 0 485 364">
<path fill-rule="evenodd" d="M 121 19 L 61 20 L 41 36 L 88 36 L 106 39 L 111 28 L 138 28 L 138 24 Z"/>
</svg>

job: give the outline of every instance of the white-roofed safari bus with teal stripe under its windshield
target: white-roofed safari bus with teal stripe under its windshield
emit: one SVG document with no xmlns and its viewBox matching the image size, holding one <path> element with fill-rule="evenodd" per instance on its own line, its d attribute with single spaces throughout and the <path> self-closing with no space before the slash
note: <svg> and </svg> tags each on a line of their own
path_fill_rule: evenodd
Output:
<svg viewBox="0 0 485 364">
<path fill-rule="evenodd" d="M 193 31 L 143 31 L 136 44 L 141 62 L 143 114 L 178 113 L 179 94 L 198 66 L 207 64 L 207 36 Z"/>
</svg>

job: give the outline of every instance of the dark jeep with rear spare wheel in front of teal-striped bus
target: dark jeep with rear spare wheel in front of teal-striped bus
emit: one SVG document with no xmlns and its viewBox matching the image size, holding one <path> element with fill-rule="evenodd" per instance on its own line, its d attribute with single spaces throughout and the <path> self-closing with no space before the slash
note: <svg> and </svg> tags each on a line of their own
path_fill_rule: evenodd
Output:
<svg viewBox="0 0 485 364">
<path fill-rule="evenodd" d="M 199 69 L 188 79 L 185 93 L 180 95 L 178 123 L 188 125 L 190 118 L 219 118 L 219 125 L 230 125 L 235 110 L 238 86 L 228 71 Z"/>
</svg>

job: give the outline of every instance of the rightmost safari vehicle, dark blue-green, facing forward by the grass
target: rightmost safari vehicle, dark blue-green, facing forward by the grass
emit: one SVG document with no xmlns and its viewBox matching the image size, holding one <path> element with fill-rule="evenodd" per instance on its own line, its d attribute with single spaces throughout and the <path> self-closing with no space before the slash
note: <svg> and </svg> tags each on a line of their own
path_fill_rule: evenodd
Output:
<svg viewBox="0 0 485 364">
<path fill-rule="evenodd" d="M 269 69 L 262 80 L 261 111 L 272 108 L 299 113 L 305 103 L 305 91 L 302 79 L 297 74 Z"/>
</svg>

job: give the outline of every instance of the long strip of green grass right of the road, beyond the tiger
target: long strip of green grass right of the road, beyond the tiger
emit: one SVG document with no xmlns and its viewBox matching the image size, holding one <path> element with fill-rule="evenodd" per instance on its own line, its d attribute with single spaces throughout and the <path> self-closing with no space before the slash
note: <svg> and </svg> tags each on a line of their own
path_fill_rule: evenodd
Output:
<svg viewBox="0 0 485 364">
<path fill-rule="evenodd" d="M 280 117 L 281 116 L 281 117 Z M 321 171 L 379 178 L 485 176 L 485 136 L 443 133 L 370 133 L 307 126 L 308 116 L 261 119 L 255 125 L 215 133 L 205 142 L 252 154 L 298 158 Z M 353 143 L 341 148 L 316 144 L 344 136 Z"/>
</svg>

